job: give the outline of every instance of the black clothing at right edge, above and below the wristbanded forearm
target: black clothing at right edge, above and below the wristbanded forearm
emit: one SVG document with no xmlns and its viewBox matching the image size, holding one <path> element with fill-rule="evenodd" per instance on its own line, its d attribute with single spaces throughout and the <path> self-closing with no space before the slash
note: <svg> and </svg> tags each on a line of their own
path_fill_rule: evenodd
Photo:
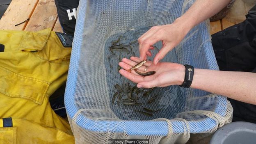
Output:
<svg viewBox="0 0 256 144">
<path fill-rule="evenodd" d="M 221 71 L 256 72 L 256 6 L 246 20 L 212 35 L 213 49 Z M 256 105 L 228 98 L 233 121 L 256 123 Z"/>
</svg>

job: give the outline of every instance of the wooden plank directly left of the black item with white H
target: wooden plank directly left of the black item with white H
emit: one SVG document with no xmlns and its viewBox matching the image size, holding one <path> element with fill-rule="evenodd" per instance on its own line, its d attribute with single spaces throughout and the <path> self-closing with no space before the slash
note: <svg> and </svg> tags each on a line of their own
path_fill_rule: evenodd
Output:
<svg viewBox="0 0 256 144">
<path fill-rule="evenodd" d="M 38 31 L 53 28 L 57 20 L 57 9 L 54 0 L 39 0 L 25 30 Z"/>
</svg>

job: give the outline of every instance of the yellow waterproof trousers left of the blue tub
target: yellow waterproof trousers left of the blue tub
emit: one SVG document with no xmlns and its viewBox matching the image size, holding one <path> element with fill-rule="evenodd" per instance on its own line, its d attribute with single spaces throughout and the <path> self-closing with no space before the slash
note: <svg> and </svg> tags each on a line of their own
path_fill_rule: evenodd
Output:
<svg viewBox="0 0 256 144">
<path fill-rule="evenodd" d="M 67 78 L 71 48 L 50 29 L 2 30 L 0 43 L 0 144 L 73 144 L 48 101 Z"/>
</svg>

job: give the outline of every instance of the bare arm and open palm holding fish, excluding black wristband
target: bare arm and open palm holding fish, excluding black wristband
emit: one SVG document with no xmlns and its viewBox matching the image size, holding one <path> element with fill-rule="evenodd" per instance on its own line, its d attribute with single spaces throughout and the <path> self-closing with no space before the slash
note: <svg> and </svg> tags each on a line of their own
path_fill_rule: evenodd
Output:
<svg viewBox="0 0 256 144">
<path fill-rule="evenodd" d="M 123 68 L 119 72 L 133 82 L 137 87 L 166 87 L 169 85 L 182 85 L 185 78 L 185 66 L 170 62 L 147 61 L 147 71 L 156 71 L 154 75 L 140 76 L 128 69 L 140 62 L 138 57 L 123 59 L 119 65 Z M 139 68 L 144 71 L 145 66 Z M 124 70 L 125 69 L 125 70 Z M 256 105 L 256 73 L 215 71 L 208 69 L 194 69 L 192 85 L 194 89 L 201 89 L 215 94 L 221 94 L 229 98 Z"/>
</svg>

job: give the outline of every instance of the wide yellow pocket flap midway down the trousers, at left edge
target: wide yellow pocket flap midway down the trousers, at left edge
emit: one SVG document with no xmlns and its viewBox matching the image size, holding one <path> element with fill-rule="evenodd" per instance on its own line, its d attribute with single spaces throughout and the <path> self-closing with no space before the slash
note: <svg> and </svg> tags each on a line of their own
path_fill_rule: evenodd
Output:
<svg viewBox="0 0 256 144">
<path fill-rule="evenodd" d="M 0 66 L 0 85 L 2 94 L 29 99 L 41 105 L 50 83 L 14 73 Z"/>
</svg>

